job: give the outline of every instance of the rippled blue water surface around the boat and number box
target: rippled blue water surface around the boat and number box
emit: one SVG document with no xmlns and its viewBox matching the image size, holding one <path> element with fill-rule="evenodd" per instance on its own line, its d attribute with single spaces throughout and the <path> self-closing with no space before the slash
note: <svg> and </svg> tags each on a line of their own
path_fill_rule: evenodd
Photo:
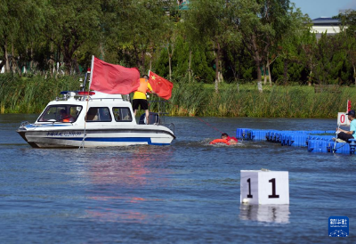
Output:
<svg viewBox="0 0 356 244">
<path fill-rule="evenodd" d="M 85 150 L 32 149 L 15 130 L 35 119 L 0 115 L 3 243 L 356 242 L 355 156 L 208 144 L 238 127 L 330 130 L 336 119 L 166 118 L 171 146 Z M 289 172 L 289 206 L 240 205 L 240 170 L 261 168 Z M 329 238 L 329 216 L 348 216 L 350 236 Z"/>
</svg>

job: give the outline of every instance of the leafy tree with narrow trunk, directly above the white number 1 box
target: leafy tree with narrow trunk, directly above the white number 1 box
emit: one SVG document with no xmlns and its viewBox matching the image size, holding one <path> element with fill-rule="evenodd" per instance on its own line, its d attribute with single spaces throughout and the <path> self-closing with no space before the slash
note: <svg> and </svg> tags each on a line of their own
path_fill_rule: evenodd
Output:
<svg viewBox="0 0 356 244">
<path fill-rule="evenodd" d="M 290 25 L 289 0 L 232 0 L 231 10 L 235 28 L 242 36 L 255 61 L 257 80 L 262 80 L 261 67 L 271 47 L 279 43 Z"/>
</svg>

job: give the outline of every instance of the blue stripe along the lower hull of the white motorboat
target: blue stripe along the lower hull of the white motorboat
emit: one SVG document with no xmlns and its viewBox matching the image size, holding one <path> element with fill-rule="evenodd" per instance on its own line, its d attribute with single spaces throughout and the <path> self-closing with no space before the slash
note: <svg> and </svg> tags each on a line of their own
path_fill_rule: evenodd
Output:
<svg viewBox="0 0 356 244">
<path fill-rule="evenodd" d="M 48 139 L 56 140 L 70 140 L 70 141 L 83 141 L 83 138 L 55 138 L 55 137 L 45 137 Z M 170 143 L 153 143 L 150 137 L 90 137 L 85 138 L 85 142 L 147 142 L 149 145 L 169 145 Z"/>
</svg>

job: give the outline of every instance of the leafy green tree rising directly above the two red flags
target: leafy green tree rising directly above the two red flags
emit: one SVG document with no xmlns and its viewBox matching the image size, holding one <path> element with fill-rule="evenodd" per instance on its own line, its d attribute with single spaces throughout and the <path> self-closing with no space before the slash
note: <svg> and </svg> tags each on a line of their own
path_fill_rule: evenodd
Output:
<svg viewBox="0 0 356 244">
<path fill-rule="evenodd" d="M 164 29 L 173 1 L 123 1 L 125 7 L 117 9 L 119 25 L 116 44 L 119 55 L 125 53 L 130 65 L 146 72 L 146 56 L 150 58 L 156 48 L 166 45 Z M 134 61 L 134 63 L 132 63 Z"/>
</svg>

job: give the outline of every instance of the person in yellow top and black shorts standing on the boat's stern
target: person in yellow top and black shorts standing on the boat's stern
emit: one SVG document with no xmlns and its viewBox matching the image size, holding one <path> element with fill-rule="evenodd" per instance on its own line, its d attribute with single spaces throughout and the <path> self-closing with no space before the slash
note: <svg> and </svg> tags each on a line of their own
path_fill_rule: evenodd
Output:
<svg viewBox="0 0 356 244">
<path fill-rule="evenodd" d="M 146 124 L 149 124 L 150 111 L 149 111 L 149 102 L 147 102 L 147 97 L 146 97 L 147 89 L 149 89 L 152 92 L 152 87 L 150 86 L 149 83 L 149 76 L 144 75 L 142 78 L 140 78 L 139 88 L 137 88 L 137 91 L 134 92 L 133 110 L 134 110 L 134 116 L 136 116 L 136 112 L 139 109 L 139 107 L 141 107 L 142 110 L 145 110 Z"/>
</svg>

